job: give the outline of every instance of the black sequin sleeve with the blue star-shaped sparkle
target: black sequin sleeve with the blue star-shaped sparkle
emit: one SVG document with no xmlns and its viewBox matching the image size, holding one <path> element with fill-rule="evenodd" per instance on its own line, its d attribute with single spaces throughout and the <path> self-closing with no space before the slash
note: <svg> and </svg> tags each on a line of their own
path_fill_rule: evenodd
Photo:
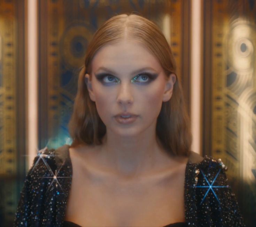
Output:
<svg viewBox="0 0 256 227">
<path fill-rule="evenodd" d="M 194 226 L 241 227 L 245 226 L 235 195 L 226 177 L 226 166 L 219 159 L 205 157 L 193 167 L 195 181 L 191 194 L 195 195 L 192 218 Z"/>
</svg>

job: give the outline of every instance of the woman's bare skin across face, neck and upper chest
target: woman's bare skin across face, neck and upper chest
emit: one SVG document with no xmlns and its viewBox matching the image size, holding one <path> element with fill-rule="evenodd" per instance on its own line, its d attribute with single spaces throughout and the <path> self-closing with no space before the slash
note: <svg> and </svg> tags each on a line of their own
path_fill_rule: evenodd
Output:
<svg viewBox="0 0 256 227">
<path fill-rule="evenodd" d="M 99 70 L 106 67 L 110 73 Z M 138 77 L 134 70 L 158 76 Z M 99 73 L 108 73 L 99 81 Z M 114 79 L 116 78 L 116 79 Z M 92 80 L 85 75 L 107 133 L 101 146 L 70 148 L 73 178 L 65 220 L 81 226 L 164 226 L 182 222 L 187 158 L 171 157 L 156 138 L 162 102 L 172 96 L 176 76 L 166 80 L 154 55 L 133 40 L 102 47 L 92 61 Z M 117 81 L 119 81 L 117 83 Z M 146 81 L 146 82 L 145 82 Z M 139 115 L 122 125 L 114 116 Z"/>
</svg>

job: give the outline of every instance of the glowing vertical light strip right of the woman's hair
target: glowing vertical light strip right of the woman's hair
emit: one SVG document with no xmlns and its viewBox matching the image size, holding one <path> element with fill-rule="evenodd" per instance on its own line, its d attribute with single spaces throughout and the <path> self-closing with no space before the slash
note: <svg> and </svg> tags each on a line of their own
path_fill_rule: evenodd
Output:
<svg viewBox="0 0 256 227">
<path fill-rule="evenodd" d="M 191 150 L 201 153 L 201 0 L 191 3 Z"/>
</svg>

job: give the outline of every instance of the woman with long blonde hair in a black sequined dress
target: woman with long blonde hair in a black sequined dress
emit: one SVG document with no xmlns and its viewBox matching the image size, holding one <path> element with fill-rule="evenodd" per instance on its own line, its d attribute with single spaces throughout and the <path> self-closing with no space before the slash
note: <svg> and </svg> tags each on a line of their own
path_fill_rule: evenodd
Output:
<svg viewBox="0 0 256 227">
<path fill-rule="evenodd" d="M 34 159 L 15 226 L 244 226 L 224 164 L 189 150 L 174 57 L 146 18 L 95 33 L 69 130 Z"/>
</svg>

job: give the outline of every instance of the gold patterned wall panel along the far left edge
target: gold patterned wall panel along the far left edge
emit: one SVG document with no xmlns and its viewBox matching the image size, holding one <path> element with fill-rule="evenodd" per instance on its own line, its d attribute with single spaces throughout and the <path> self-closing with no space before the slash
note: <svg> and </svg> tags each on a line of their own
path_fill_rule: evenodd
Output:
<svg viewBox="0 0 256 227">
<path fill-rule="evenodd" d="M 24 1 L 0 1 L 0 226 L 11 226 L 25 168 Z"/>
</svg>

